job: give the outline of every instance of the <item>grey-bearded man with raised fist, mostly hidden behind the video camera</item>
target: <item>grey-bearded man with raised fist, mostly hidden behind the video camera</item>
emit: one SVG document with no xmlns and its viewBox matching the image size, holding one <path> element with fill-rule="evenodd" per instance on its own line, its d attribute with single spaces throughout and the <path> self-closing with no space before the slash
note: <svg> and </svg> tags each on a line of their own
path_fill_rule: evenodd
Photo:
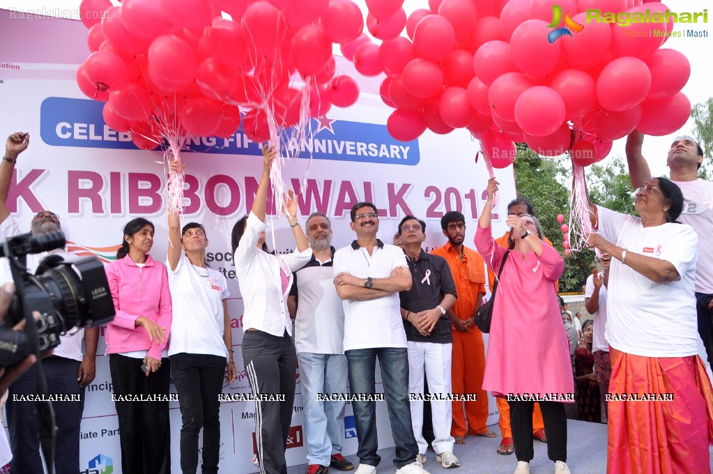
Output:
<svg viewBox="0 0 713 474">
<path fill-rule="evenodd" d="M 2 241 L 19 235 L 17 222 L 10 215 L 6 203 L 10 190 L 15 163 L 18 156 L 30 143 L 29 133 L 13 133 L 5 143 L 5 156 L 0 162 L 0 239 Z M 47 234 L 61 230 L 59 217 L 53 212 L 38 212 L 31 222 L 33 234 Z M 64 249 L 49 253 L 64 255 Z M 41 259 L 48 252 L 29 254 L 27 269 L 34 274 Z M 9 263 L 3 259 L 0 267 L 0 281 L 12 281 Z M 57 474 L 79 472 L 79 425 L 84 410 L 84 388 L 94 380 L 96 373 L 95 356 L 99 329 L 80 329 L 72 336 L 60 336 L 60 343 L 52 356 L 41 361 L 47 380 L 49 394 L 79 395 L 80 401 L 52 402 L 58 433 L 54 448 L 54 465 Z M 85 355 L 82 355 L 82 339 L 85 341 Z M 34 366 L 18 378 L 9 388 L 6 403 L 7 424 L 13 453 L 12 473 L 41 473 L 43 464 L 37 435 L 37 414 L 34 401 L 15 401 L 14 395 L 34 394 L 36 389 Z"/>
</svg>

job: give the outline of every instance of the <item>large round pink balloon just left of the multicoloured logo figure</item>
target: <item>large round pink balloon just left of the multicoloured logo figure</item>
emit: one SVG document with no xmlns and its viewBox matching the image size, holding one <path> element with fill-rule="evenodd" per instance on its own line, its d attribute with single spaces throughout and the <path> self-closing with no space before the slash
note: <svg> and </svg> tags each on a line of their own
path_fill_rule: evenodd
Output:
<svg viewBox="0 0 713 474">
<path fill-rule="evenodd" d="M 510 53 L 520 71 L 533 76 L 547 76 L 560 61 L 560 41 L 547 39 L 547 22 L 528 20 L 513 31 L 510 38 Z"/>
</svg>

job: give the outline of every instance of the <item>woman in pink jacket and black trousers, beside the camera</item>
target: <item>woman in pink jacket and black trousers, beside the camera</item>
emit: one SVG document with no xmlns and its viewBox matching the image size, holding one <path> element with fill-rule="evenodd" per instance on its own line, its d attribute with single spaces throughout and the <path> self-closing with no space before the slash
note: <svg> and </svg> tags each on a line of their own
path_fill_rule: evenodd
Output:
<svg viewBox="0 0 713 474">
<path fill-rule="evenodd" d="M 116 309 L 106 331 L 106 354 L 119 418 L 121 470 L 131 474 L 170 474 L 165 347 L 171 297 L 166 268 L 148 255 L 153 232 L 143 217 L 130 221 L 116 261 L 106 267 Z M 147 397 L 153 399 L 141 401 Z"/>
</svg>

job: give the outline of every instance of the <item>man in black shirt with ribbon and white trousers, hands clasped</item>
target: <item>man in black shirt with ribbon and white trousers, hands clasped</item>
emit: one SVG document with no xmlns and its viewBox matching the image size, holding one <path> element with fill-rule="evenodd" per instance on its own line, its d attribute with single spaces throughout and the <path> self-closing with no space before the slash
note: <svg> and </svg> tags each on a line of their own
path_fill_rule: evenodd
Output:
<svg viewBox="0 0 713 474">
<path fill-rule="evenodd" d="M 443 257 L 427 254 L 421 245 L 426 240 L 426 222 L 407 215 L 399 224 L 404 242 L 404 254 L 411 271 L 411 289 L 401 292 L 401 317 L 404 318 L 406 341 L 409 346 L 409 392 L 419 394 L 411 400 L 411 426 L 419 458 L 426 461 L 429 447 L 423 435 L 424 368 L 429 382 L 431 413 L 435 439 L 436 462 L 443 468 L 457 468 L 461 463 L 453 454 L 451 436 L 451 356 L 453 334 L 446 311 L 456 302 L 456 284 L 451 268 Z"/>
</svg>

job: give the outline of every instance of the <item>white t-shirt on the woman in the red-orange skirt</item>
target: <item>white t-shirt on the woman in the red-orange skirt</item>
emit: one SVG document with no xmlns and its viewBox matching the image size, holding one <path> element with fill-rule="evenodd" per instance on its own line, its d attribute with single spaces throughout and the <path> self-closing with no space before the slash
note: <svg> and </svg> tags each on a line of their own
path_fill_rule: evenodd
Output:
<svg viewBox="0 0 713 474">
<path fill-rule="evenodd" d="M 597 210 L 602 237 L 629 252 L 666 260 L 680 276 L 676 282 L 655 283 L 612 259 L 605 331 L 609 344 L 636 356 L 698 354 L 696 232 L 685 224 L 643 227 L 639 217 L 600 206 Z"/>
</svg>

